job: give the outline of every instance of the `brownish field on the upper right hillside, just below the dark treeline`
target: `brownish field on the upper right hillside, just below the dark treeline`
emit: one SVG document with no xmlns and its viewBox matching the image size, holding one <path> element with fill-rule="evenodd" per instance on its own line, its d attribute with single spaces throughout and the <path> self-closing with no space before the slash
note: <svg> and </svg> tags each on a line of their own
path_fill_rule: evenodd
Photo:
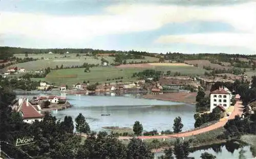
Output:
<svg viewBox="0 0 256 159">
<path fill-rule="evenodd" d="M 198 64 L 198 67 L 203 68 L 203 66 L 210 66 L 211 68 L 215 69 L 232 69 L 232 66 L 222 66 L 215 63 L 210 63 L 208 60 L 185 60 L 185 63 L 196 65 Z"/>
</svg>

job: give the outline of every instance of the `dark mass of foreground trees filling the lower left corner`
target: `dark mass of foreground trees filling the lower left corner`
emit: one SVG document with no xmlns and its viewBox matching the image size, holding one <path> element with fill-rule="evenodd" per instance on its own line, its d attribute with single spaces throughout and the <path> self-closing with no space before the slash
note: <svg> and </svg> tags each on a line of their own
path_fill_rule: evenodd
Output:
<svg viewBox="0 0 256 159">
<path fill-rule="evenodd" d="M 81 139 L 74 133 L 71 117 L 65 117 L 60 121 L 46 113 L 41 122 L 24 123 L 22 117 L 12 112 L 9 107 L 14 99 L 15 94 L 11 90 L 0 88 L 0 141 L 15 145 L 17 138 L 33 136 L 36 143 L 18 148 L 10 145 L 2 146 L 2 151 L 12 158 L 28 158 L 28 155 L 19 148 L 36 159 L 153 158 L 151 149 L 140 139 L 133 139 L 127 146 L 114 134 L 106 132 L 99 132 L 97 135 L 92 132 L 87 139 Z M 79 115 L 76 121 L 84 124 L 85 120 Z M 84 126 L 80 128 L 84 130 Z"/>
</svg>

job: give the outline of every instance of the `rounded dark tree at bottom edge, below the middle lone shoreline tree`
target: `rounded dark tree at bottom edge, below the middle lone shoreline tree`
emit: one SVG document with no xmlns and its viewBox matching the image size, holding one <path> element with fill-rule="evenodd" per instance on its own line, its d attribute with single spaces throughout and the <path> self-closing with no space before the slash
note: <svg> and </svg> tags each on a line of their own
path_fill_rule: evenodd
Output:
<svg viewBox="0 0 256 159">
<path fill-rule="evenodd" d="M 141 139 L 133 138 L 127 146 L 127 159 L 154 158 L 151 149 Z"/>
</svg>

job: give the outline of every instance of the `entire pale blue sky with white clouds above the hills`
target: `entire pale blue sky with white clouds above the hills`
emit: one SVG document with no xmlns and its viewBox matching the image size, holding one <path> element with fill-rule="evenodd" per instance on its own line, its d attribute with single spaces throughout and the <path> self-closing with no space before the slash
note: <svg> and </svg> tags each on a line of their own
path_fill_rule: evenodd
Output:
<svg viewBox="0 0 256 159">
<path fill-rule="evenodd" d="M 0 0 L 0 46 L 256 54 L 256 1 Z"/>
</svg>

